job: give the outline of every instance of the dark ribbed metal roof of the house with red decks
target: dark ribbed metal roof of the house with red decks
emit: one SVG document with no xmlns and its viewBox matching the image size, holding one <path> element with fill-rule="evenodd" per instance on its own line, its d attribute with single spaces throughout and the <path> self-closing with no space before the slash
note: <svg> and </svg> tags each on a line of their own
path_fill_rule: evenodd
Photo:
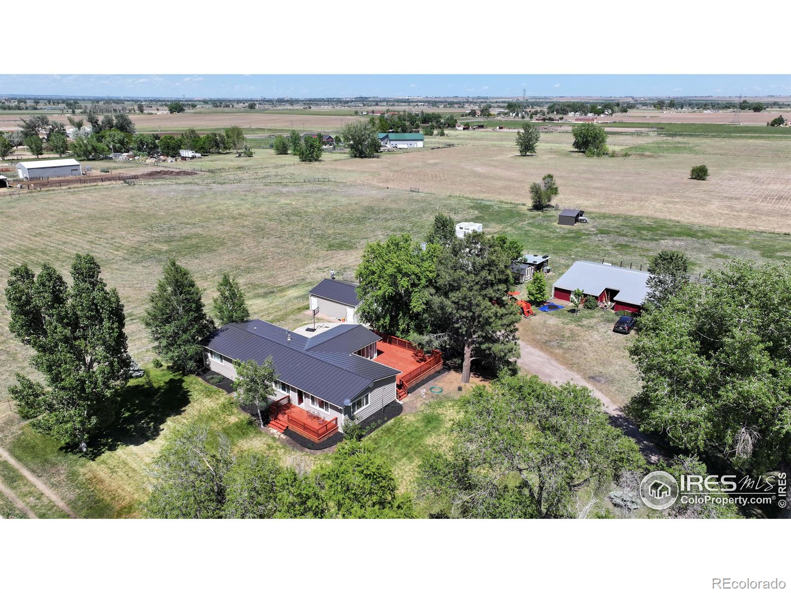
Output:
<svg viewBox="0 0 791 593">
<path fill-rule="evenodd" d="M 336 406 L 343 406 L 346 398 L 354 399 L 373 381 L 399 373 L 395 368 L 356 354 L 305 350 L 308 342 L 305 336 L 252 319 L 224 325 L 210 334 L 203 346 L 234 361 L 252 360 L 262 364 L 272 357 L 279 380 Z M 332 342 L 334 339 L 324 341 Z"/>
</svg>

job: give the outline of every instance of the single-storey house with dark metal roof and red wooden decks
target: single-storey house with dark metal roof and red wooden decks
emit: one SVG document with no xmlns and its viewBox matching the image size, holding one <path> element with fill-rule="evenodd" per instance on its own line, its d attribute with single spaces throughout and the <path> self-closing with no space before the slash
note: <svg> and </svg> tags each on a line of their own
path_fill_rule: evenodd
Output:
<svg viewBox="0 0 791 593">
<path fill-rule="evenodd" d="M 309 337 L 252 319 L 228 323 L 203 342 L 204 364 L 236 379 L 235 362 L 272 358 L 277 380 L 270 427 L 320 442 L 403 399 L 409 388 L 442 368 L 410 342 L 339 323 Z"/>
</svg>

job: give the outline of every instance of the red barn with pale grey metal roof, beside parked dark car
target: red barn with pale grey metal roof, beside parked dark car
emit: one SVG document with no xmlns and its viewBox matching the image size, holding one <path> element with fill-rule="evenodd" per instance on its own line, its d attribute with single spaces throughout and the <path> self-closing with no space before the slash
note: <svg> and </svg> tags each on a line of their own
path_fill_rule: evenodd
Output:
<svg viewBox="0 0 791 593">
<path fill-rule="evenodd" d="M 615 311 L 639 313 L 648 294 L 649 273 L 630 270 L 609 263 L 574 262 L 552 285 L 552 296 L 570 300 L 581 289 L 599 304 L 612 304 Z"/>
</svg>

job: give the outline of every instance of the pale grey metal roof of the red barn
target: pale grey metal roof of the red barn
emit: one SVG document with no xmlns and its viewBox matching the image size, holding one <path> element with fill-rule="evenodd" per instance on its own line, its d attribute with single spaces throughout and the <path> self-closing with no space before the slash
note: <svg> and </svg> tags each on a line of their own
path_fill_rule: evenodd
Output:
<svg viewBox="0 0 791 593">
<path fill-rule="evenodd" d="M 640 270 L 628 270 L 606 263 L 574 262 L 554 283 L 553 289 L 582 289 L 585 294 L 599 296 L 604 289 L 619 291 L 615 300 L 623 303 L 642 305 L 648 294 L 649 273 Z"/>
</svg>

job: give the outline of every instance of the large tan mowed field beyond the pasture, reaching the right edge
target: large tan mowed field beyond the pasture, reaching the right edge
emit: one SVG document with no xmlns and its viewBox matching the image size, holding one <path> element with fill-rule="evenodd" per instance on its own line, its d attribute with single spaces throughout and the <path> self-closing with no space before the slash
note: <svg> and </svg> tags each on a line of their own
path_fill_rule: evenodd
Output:
<svg viewBox="0 0 791 593">
<path fill-rule="evenodd" d="M 791 137 L 679 142 L 612 134 L 608 144 L 628 149 L 630 156 L 624 158 L 585 157 L 571 150 L 572 140 L 570 133 L 543 134 L 538 153 L 520 157 L 512 132 L 452 131 L 426 142 L 456 144 L 450 148 L 332 161 L 319 168 L 327 176 L 379 187 L 521 203 L 529 199 L 530 183 L 551 173 L 560 188 L 558 202 L 582 210 L 791 231 Z M 650 145 L 645 153 L 643 144 Z M 689 179 L 696 164 L 709 168 L 707 181 Z"/>
</svg>

